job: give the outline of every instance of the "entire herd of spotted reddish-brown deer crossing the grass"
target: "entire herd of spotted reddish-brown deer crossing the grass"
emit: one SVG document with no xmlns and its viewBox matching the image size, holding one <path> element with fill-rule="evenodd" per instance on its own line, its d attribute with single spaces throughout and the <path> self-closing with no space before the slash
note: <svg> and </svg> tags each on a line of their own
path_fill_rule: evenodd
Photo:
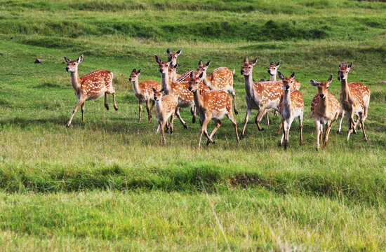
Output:
<svg viewBox="0 0 386 252">
<path fill-rule="evenodd" d="M 284 77 L 280 71 L 277 71 L 280 62 L 277 64 L 272 62 L 268 67 L 269 81 L 262 79 L 259 82 L 253 82 L 252 70 L 253 66 L 258 62 L 258 59 L 256 58 L 253 62 L 249 62 L 248 58 L 244 59 L 244 64 L 241 66 L 241 75 L 245 78 L 246 117 L 239 138 L 236 120 L 232 114 L 232 99 L 228 95 L 228 93 L 232 94 L 234 113 L 237 114 L 236 93 L 233 88 L 234 71 L 230 71 L 227 67 L 220 67 L 207 74 L 206 70 L 211 61 L 204 65 L 202 60 L 200 60 L 197 71 L 187 71 L 187 73 L 180 76 L 176 73 L 176 69 L 178 67 L 177 58 L 181 51 L 182 49 L 172 53 L 171 50 L 168 49 L 168 61 L 166 62 L 162 62 L 157 55 L 154 55 L 154 59 L 159 65 L 159 71 L 161 72 L 161 84 L 154 80 L 139 82 L 140 69 L 138 71 L 137 69 L 133 69 L 129 78 L 133 83 L 133 91 L 139 102 L 139 121 L 141 120 L 142 102 L 146 102 L 149 120 L 152 118 L 152 110 L 155 104 L 155 117 L 159 123 L 157 132 L 161 131 L 160 144 L 165 141 L 165 126 L 166 132 L 173 132 L 173 119 L 175 116 L 178 117 L 185 128 L 187 127 L 185 121 L 182 120 L 180 116 L 180 108 L 191 109 L 193 123 L 196 120 L 196 113 L 199 116 L 201 130 L 197 148 L 200 147 L 202 134 L 205 134 L 208 139 L 207 145 L 214 143 L 212 137 L 220 127 L 220 119 L 223 116 L 227 116 L 232 122 L 236 132 L 237 143 L 239 144 L 240 139 L 244 138 L 244 132 L 252 109 L 258 111 L 255 118 L 258 130 L 264 130 L 260 127 L 260 121 L 265 114 L 267 114 L 267 125 L 269 125 L 269 110 L 274 109 L 275 113 L 280 113 L 281 124 L 277 134 L 279 134 L 282 127 L 283 134 L 281 135 L 279 146 L 281 146 L 284 141 L 285 149 L 288 144 L 291 124 L 295 118 L 298 118 L 300 144 L 302 144 L 304 102 L 302 94 L 299 92 L 300 83 L 293 78 L 295 72 L 289 77 Z M 115 89 L 112 86 L 112 72 L 104 70 L 92 71 L 86 76 L 79 78 L 78 64 L 82 61 L 83 55 L 76 60 L 69 60 L 67 57 L 64 58 L 67 63 L 66 71 L 71 73 L 72 86 L 79 100 L 74 111 L 72 111 L 72 116 L 69 118 L 67 127 L 71 125 L 74 113 L 76 113 L 79 107 L 81 107 L 82 120 L 84 121 L 84 102 L 86 100 L 98 99 L 105 94 L 105 107 L 108 110 L 107 94 L 112 94 L 114 109 L 118 109 L 115 102 Z M 325 148 L 331 125 L 339 116 L 341 118 L 338 125 L 338 133 L 340 133 L 345 113 L 347 114 L 347 120 L 349 122 L 347 141 L 350 139 L 352 132 L 357 134 L 357 126 L 358 129 L 361 128 L 363 130 L 364 140 L 367 141 L 364 121 L 367 118 L 370 90 L 362 83 L 347 83 L 347 74 L 351 67 L 352 63 L 349 65 L 341 63 L 339 65 L 338 80 L 340 80 L 341 83 L 340 103 L 333 94 L 328 92 L 328 86 L 333 80 L 332 74 L 325 82 L 309 80 L 313 86 L 318 87 L 318 94 L 315 95 L 311 103 L 311 113 L 317 128 L 317 150 L 319 150 L 321 141 L 323 141 L 322 149 Z M 280 80 L 277 80 L 277 75 Z M 150 102 L 152 102 L 151 108 L 149 107 Z M 342 106 L 341 108 L 340 105 Z M 354 118 L 354 116 L 356 116 L 356 118 Z M 171 118 L 169 123 L 168 118 Z M 214 121 L 215 127 L 211 134 L 208 134 L 206 126 L 210 120 Z M 326 129 L 322 137 L 324 126 Z"/>
</svg>

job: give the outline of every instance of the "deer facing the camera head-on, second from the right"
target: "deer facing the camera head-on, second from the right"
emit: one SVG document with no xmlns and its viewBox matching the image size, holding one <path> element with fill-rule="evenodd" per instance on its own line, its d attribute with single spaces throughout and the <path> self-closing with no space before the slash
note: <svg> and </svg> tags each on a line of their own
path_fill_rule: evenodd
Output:
<svg viewBox="0 0 386 252">
<path fill-rule="evenodd" d="M 315 127 L 317 128 L 317 151 L 319 150 L 320 142 L 322 142 L 323 125 L 326 126 L 321 146 L 321 149 L 324 150 L 328 141 L 331 125 L 338 119 L 340 105 L 338 99 L 328 92 L 328 86 L 331 81 L 333 81 L 332 74 L 326 82 L 319 83 L 316 80 L 308 81 L 314 87 L 318 87 L 318 94 L 314 96 L 311 102 L 311 113 L 315 121 Z"/>
</svg>

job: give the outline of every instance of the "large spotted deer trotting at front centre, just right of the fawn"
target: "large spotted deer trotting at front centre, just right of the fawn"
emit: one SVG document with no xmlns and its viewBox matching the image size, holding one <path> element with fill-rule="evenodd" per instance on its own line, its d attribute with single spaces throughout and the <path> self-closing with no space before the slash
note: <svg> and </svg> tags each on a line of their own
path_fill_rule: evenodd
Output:
<svg viewBox="0 0 386 252">
<path fill-rule="evenodd" d="M 234 130 L 236 132 L 237 144 L 239 144 L 240 139 L 239 134 L 237 134 L 237 124 L 236 120 L 234 120 L 234 117 L 232 115 L 232 99 L 229 97 L 227 92 L 224 92 L 222 90 L 211 90 L 201 93 L 201 81 L 203 78 L 203 73 L 200 73 L 198 77 L 195 77 L 194 73 L 190 73 L 189 91 L 193 92 L 194 104 L 196 104 L 197 113 L 202 121 L 199 144 L 197 146 L 197 149 L 200 148 L 201 137 L 203 133 L 208 138 L 206 145 L 215 143 L 212 137 L 218 130 L 218 128 L 221 126 L 220 119 L 223 116 L 227 116 L 227 118 L 229 118 L 229 120 L 232 122 Z M 215 122 L 215 127 L 211 135 L 208 135 L 206 126 L 208 125 L 210 120 L 213 120 Z"/>
</svg>

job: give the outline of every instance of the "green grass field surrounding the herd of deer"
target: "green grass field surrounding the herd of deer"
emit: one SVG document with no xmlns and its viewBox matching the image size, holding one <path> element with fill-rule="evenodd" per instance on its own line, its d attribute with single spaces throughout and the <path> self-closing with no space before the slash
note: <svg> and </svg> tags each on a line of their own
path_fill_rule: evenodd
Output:
<svg viewBox="0 0 386 252">
<path fill-rule="evenodd" d="M 385 41 L 380 2 L 1 1 L 0 251 L 385 251 Z M 166 48 L 183 48 L 180 74 L 199 59 L 236 69 L 239 131 L 244 57 L 258 57 L 255 81 L 272 61 L 295 71 L 304 144 L 295 122 L 279 148 L 279 116 L 258 132 L 253 111 L 239 146 L 225 119 L 196 151 L 199 124 L 182 109 L 189 127 L 175 120 L 159 146 L 128 76 L 161 80 L 153 55 Z M 119 110 L 86 102 L 86 123 L 79 110 L 66 128 L 77 99 L 63 56 L 82 53 L 80 75 L 114 72 Z M 333 73 L 338 97 L 340 62 L 371 90 L 369 141 L 345 141 L 344 120 L 316 152 L 308 79 Z"/>
</svg>

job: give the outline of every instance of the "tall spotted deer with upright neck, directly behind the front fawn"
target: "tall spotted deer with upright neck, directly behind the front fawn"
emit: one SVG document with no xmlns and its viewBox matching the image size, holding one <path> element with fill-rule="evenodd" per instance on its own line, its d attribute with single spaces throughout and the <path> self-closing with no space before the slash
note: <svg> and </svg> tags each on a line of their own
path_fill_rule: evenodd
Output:
<svg viewBox="0 0 386 252">
<path fill-rule="evenodd" d="M 194 97 L 192 92 L 189 92 L 188 87 L 189 83 L 188 82 L 173 82 L 170 81 L 169 76 L 168 76 L 168 67 L 171 64 L 171 58 L 169 57 L 167 62 L 162 62 L 161 59 L 157 55 L 154 55 L 154 59 L 159 64 L 159 71 L 161 72 L 161 86 L 164 88 L 165 94 L 171 94 L 175 96 L 178 99 L 178 108 L 175 111 L 175 116 L 180 119 L 182 125 L 187 128 L 187 125 L 184 120 L 182 120 L 180 116 L 180 108 L 192 108 L 194 106 Z M 209 88 L 206 87 L 204 84 L 200 84 L 200 90 L 201 92 L 206 92 L 209 91 Z M 191 110 L 193 113 L 193 109 Z M 195 115 L 193 114 L 193 122 L 195 121 Z"/>
</svg>

